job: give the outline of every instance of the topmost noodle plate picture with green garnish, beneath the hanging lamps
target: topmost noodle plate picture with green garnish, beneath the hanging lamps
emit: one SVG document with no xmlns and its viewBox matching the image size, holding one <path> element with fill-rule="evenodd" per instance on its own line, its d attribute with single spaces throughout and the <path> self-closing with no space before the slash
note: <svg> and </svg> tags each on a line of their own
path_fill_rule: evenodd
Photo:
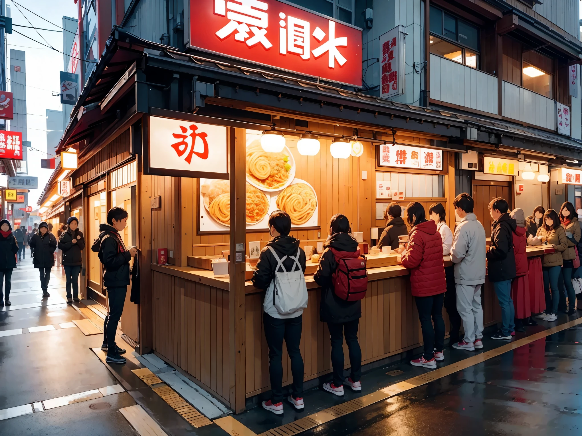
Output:
<svg viewBox="0 0 582 436">
<path fill-rule="evenodd" d="M 260 140 L 247 147 L 247 180 L 260 189 L 281 189 L 293 179 L 293 173 L 293 158 L 287 147 L 281 153 L 267 153 Z"/>
</svg>

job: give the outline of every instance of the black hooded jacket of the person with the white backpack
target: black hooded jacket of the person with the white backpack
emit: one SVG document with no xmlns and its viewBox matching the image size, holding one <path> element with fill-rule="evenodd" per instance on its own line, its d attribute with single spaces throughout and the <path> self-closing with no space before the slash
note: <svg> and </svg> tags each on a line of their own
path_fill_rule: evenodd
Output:
<svg viewBox="0 0 582 436">
<path fill-rule="evenodd" d="M 273 247 L 280 259 L 283 256 L 296 256 L 297 249 L 299 249 L 299 264 L 303 272 L 305 272 L 305 251 L 299 248 L 299 239 L 295 239 L 293 236 L 276 236 L 267 243 L 267 246 Z M 289 257 L 283 260 L 285 271 L 291 271 L 294 263 L 295 261 Z M 277 261 L 271 250 L 267 247 L 262 249 L 258 258 L 257 269 L 253 272 L 253 278 L 251 278 L 254 287 L 267 290 L 272 279 L 275 278 L 276 266 Z"/>
</svg>

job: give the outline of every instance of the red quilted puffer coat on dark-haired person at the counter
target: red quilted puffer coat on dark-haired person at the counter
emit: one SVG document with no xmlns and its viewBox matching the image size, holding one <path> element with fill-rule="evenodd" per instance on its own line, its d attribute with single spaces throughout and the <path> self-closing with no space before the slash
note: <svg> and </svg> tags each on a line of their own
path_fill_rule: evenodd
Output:
<svg viewBox="0 0 582 436">
<path fill-rule="evenodd" d="M 428 297 L 446 291 L 442 238 L 437 223 L 429 220 L 410 229 L 402 266 L 410 270 L 410 288 L 415 297 Z"/>
</svg>

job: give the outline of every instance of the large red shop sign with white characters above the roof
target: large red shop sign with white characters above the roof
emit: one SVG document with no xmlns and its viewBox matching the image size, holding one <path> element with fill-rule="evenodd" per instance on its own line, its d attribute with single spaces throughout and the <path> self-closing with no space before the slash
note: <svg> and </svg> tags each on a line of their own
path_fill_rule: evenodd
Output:
<svg viewBox="0 0 582 436">
<path fill-rule="evenodd" d="M 302 75 L 361 86 L 362 33 L 278 0 L 197 0 L 190 45 Z"/>
</svg>

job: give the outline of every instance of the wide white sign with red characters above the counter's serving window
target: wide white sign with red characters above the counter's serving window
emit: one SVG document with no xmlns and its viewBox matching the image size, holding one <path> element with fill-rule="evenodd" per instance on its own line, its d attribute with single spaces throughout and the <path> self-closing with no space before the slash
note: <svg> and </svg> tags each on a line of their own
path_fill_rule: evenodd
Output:
<svg viewBox="0 0 582 436">
<path fill-rule="evenodd" d="M 379 147 L 379 166 L 442 170 L 442 150 L 400 144 L 385 144 Z"/>
</svg>

